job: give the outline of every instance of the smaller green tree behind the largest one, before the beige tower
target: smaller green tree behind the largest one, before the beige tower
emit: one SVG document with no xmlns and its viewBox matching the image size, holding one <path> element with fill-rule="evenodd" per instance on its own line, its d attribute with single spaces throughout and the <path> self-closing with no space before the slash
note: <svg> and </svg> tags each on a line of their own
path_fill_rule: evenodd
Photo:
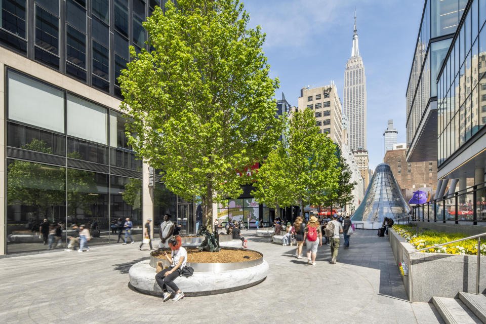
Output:
<svg viewBox="0 0 486 324">
<path fill-rule="evenodd" d="M 255 198 L 276 208 L 321 205 L 336 197 L 340 168 L 336 145 L 319 133 L 310 109 L 295 112 L 285 133 L 258 170 Z"/>
</svg>

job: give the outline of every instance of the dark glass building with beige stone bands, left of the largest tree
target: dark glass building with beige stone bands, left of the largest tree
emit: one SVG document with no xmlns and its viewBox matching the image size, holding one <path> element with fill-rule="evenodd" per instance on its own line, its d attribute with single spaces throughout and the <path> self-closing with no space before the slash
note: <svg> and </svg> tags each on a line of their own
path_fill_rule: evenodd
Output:
<svg viewBox="0 0 486 324">
<path fill-rule="evenodd" d="M 129 45 L 148 50 L 142 22 L 165 0 L 0 1 L 0 256 L 45 251 L 48 219 L 92 232 L 90 245 L 141 240 L 164 214 L 195 229 L 195 201 L 167 190 L 127 142 L 116 82 Z M 156 234 L 157 236 L 157 234 Z M 57 246 L 57 239 L 53 246 Z"/>
</svg>

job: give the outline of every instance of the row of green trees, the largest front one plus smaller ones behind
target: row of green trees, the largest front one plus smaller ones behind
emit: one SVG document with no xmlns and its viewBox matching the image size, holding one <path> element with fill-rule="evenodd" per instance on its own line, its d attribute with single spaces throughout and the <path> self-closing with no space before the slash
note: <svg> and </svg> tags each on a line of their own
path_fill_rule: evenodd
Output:
<svg viewBox="0 0 486 324">
<path fill-rule="evenodd" d="M 129 143 L 163 170 L 168 189 L 201 197 L 208 229 L 213 202 L 238 197 L 251 181 L 271 207 L 349 199 L 346 166 L 312 111 L 275 117 L 278 78 L 269 77 L 265 34 L 247 28 L 249 19 L 238 0 L 167 2 L 143 24 L 152 50 L 131 47 L 118 78 L 133 117 Z M 256 162 L 258 173 L 239 176 Z"/>
</svg>

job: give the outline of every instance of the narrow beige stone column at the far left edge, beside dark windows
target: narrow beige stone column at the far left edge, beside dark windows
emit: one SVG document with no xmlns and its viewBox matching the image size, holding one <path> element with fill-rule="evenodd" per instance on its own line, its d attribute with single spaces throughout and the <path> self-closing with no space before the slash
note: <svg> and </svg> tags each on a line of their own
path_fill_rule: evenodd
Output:
<svg viewBox="0 0 486 324">
<path fill-rule="evenodd" d="M 7 204 L 6 204 L 6 187 L 5 183 L 5 143 L 6 141 L 6 129 L 5 129 L 5 93 L 4 93 L 4 64 L 0 63 L 0 255 L 5 254 L 6 250 L 6 220 L 7 220 Z"/>
</svg>

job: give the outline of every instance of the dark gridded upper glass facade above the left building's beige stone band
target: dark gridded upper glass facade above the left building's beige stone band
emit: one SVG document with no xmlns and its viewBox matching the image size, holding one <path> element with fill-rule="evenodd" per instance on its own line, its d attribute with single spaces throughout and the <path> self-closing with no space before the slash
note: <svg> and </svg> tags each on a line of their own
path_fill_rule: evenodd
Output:
<svg viewBox="0 0 486 324">
<path fill-rule="evenodd" d="M 0 46 L 121 99 L 128 46 L 150 50 L 142 22 L 166 2 L 1 0 Z"/>
</svg>

